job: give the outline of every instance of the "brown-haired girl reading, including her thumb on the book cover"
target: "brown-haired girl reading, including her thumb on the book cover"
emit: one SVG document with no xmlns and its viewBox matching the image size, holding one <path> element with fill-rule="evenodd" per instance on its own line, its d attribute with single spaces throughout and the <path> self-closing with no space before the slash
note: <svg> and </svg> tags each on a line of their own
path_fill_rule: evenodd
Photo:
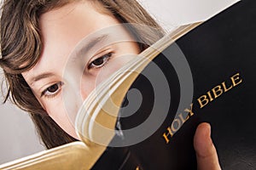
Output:
<svg viewBox="0 0 256 170">
<path fill-rule="evenodd" d="M 81 80 L 83 88 L 80 95 L 83 99 L 95 88 L 100 71 L 104 72 L 104 79 L 132 58 L 119 60 L 118 56 L 139 54 L 163 37 L 165 33 L 160 26 L 136 0 L 3 2 L 0 65 L 9 87 L 4 101 L 11 99 L 20 109 L 30 113 L 48 149 L 78 139 L 61 100 L 63 88 L 70 83 L 62 79 L 69 54 L 81 39 L 92 32 L 120 23 L 143 24 L 157 31 L 123 28 L 121 33 L 116 33 L 128 41 L 91 52 L 85 59 Z M 92 41 L 92 46 L 105 37 L 97 38 Z M 218 158 L 209 131 L 206 123 L 198 127 L 195 150 L 199 167 L 207 165 L 209 169 L 208 166 L 212 165 L 214 169 L 218 168 Z"/>
</svg>

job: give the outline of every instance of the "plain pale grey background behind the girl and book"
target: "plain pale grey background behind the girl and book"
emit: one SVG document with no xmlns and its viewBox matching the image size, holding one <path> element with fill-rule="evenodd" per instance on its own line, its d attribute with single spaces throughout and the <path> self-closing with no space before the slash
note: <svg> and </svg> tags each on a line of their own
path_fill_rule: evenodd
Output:
<svg viewBox="0 0 256 170">
<path fill-rule="evenodd" d="M 237 1 L 139 0 L 166 30 L 208 19 Z M 9 103 L 0 104 L 0 135 L 0 164 L 44 150 L 29 116 Z"/>
</svg>

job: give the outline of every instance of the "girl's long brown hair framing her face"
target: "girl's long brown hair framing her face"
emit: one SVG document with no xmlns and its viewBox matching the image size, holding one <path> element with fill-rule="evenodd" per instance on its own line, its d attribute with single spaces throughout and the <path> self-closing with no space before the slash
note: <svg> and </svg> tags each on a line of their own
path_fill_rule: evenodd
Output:
<svg viewBox="0 0 256 170">
<path fill-rule="evenodd" d="M 74 1 L 74 0 L 73 0 Z M 0 66 L 7 82 L 8 92 L 4 102 L 10 99 L 23 111 L 30 113 L 45 146 L 49 149 L 67 144 L 73 139 L 65 133 L 38 103 L 21 73 L 37 64 L 41 54 L 39 16 L 54 8 L 61 8 L 72 0 L 4 0 L 1 17 Z M 137 38 L 143 51 L 153 44 L 164 31 L 137 3 L 136 0 L 88 0 L 101 4 L 121 23 L 136 23 L 152 26 L 158 31 L 148 32 L 139 28 L 129 28 Z"/>
</svg>

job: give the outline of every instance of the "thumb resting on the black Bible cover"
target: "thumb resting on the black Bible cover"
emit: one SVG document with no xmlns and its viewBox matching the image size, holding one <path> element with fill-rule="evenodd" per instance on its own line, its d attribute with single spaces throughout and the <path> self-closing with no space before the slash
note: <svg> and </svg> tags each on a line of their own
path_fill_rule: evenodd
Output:
<svg viewBox="0 0 256 170">
<path fill-rule="evenodd" d="M 194 147 L 197 159 L 198 170 L 219 170 L 217 151 L 212 144 L 211 126 L 203 122 L 195 131 Z"/>
</svg>

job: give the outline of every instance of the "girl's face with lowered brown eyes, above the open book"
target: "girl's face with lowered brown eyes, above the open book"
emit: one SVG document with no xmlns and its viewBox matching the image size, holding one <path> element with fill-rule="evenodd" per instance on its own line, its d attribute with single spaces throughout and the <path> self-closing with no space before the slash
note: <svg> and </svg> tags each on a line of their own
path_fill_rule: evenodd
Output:
<svg viewBox="0 0 256 170">
<path fill-rule="evenodd" d="M 66 69 L 67 61 L 70 61 L 69 56 L 73 49 L 84 37 L 117 24 L 119 21 L 107 14 L 103 8 L 86 1 L 69 3 L 40 17 L 41 37 L 44 44 L 42 55 L 38 64 L 22 75 L 44 110 L 74 138 L 78 139 L 73 123 L 68 119 L 66 105 L 61 95 L 65 87 L 73 82 L 63 78 L 63 71 Z M 77 97 L 85 99 L 96 87 L 96 83 L 108 78 L 134 55 L 118 59 L 119 56 L 139 54 L 137 43 L 132 41 L 132 37 L 124 28 L 114 33 L 115 35 L 109 33 L 103 37 L 93 36 L 94 39 L 85 44 L 84 67 L 79 86 L 83 88 L 79 89 L 80 96 Z M 106 45 L 108 38 L 113 36 L 125 37 L 131 41 Z M 79 107 L 79 104 L 73 105 Z"/>
</svg>

